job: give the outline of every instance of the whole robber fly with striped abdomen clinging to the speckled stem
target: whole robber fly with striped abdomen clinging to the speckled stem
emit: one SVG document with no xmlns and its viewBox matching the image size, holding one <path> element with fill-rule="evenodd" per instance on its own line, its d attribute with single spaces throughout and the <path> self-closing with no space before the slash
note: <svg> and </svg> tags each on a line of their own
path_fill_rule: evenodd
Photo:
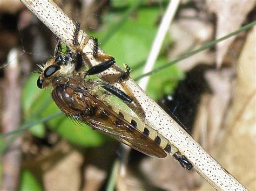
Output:
<svg viewBox="0 0 256 191">
<path fill-rule="evenodd" d="M 72 50 L 62 41 L 57 41 L 54 55 L 41 68 L 37 80 L 39 88 L 52 87 L 52 99 L 63 113 L 83 122 L 137 151 L 151 157 L 163 158 L 173 155 L 185 169 L 193 166 L 178 149 L 150 128 L 136 115 L 117 108 L 110 103 L 110 97 L 115 96 L 125 103 L 132 102 L 132 97 L 124 91 L 112 86 L 109 82 L 93 79 L 92 75 L 102 73 L 114 63 L 114 58 L 98 53 L 98 41 L 93 38 L 92 55 L 102 61 L 99 65 L 86 69 L 86 59 L 79 47 L 79 23 L 75 22 Z M 129 76 L 130 68 L 126 66 L 120 79 Z"/>
</svg>

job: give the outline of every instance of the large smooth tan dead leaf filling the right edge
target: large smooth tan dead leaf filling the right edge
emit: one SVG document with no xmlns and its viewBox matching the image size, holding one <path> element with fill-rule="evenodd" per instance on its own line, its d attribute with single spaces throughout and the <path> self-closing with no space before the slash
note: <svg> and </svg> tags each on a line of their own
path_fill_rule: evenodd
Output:
<svg viewBox="0 0 256 191">
<path fill-rule="evenodd" d="M 248 34 L 237 67 L 237 87 L 216 158 L 249 190 L 256 188 L 256 27 Z M 208 187 L 204 186 L 202 190 Z"/>
</svg>

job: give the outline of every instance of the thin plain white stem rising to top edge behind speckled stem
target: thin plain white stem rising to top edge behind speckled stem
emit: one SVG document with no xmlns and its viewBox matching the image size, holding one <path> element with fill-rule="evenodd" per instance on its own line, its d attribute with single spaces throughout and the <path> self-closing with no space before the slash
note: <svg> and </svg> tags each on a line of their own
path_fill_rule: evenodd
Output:
<svg viewBox="0 0 256 191">
<path fill-rule="evenodd" d="M 167 6 L 165 14 L 161 20 L 161 24 L 159 26 L 156 38 L 154 39 L 154 42 L 152 44 L 149 57 L 147 58 L 146 65 L 144 66 L 143 74 L 146 74 L 153 69 L 154 63 L 157 60 L 161 46 L 164 42 L 166 33 L 169 30 L 172 19 L 178 9 L 179 2 L 180 2 L 179 0 L 173 0 L 173 1 L 170 1 L 169 5 Z M 149 83 L 149 79 L 150 79 L 150 76 L 146 76 L 139 81 L 139 86 L 143 90 L 146 90 L 147 83 Z"/>
</svg>

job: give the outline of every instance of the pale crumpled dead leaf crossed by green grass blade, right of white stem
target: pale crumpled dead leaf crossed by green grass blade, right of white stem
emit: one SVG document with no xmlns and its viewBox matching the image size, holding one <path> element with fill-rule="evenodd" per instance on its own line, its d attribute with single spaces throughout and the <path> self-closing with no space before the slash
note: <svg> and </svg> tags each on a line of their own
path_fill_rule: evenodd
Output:
<svg viewBox="0 0 256 191">
<path fill-rule="evenodd" d="M 179 19 L 172 23 L 170 27 L 171 38 L 174 46 L 170 50 L 169 58 L 179 58 L 180 55 L 203 46 L 210 41 L 213 36 L 213 24 L 208 22 L 204 11 L 200 13 L 196 9 L 182 9 L 179 13 Z M 179 61 L 177 65 L 184 72 L 196 67 L 200 63 L 211 65 L 215 62 L 215 53 L 201 51 L 194 56 Z"/>
</svg>

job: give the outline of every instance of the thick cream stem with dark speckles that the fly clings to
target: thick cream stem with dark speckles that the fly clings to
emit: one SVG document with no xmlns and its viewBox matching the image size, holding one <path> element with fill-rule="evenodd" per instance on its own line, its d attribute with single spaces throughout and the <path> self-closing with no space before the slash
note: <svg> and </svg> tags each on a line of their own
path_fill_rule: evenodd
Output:
<svg viewBox="0 0 256 191">
<path fill-rule="evenodd" d="M 75 25 L 72 20 L 60 10 L 52 1 L 25 1 L 22 2 L 49 27 L 49 29 L 66 45 L 72 46 L 72 36 Z M 80 31 L 79 40 L 82 42 L 83 52 L 88 56 L 92 65 L 98 62 L 91 55 L 93 42 L 89 37 Z M 79 38 L 79 39 L 80 39 Z M 99 49 L 103 53 L 102 49 Z M 113 80 L 113 76 L 119 74 L 120 68 L 114 66 L 100 76 L 104 80 Z M 122 86 L 112 81 L 115 86 Z M 161 135 L 170 140 L 179 151 L 184 154 L 194 165 L 194 169 L 214 188 L 219 190 L 246 190 L 231 174 L 227 173 L 217 161 L 207 154 L 200 145 L 193 140 L 166 112 L 159 107 L 132 79 L 125 82 L 135 96 L 134 102 L 142 108 L 146 122 L 152 125 Z"/>
</svg>

